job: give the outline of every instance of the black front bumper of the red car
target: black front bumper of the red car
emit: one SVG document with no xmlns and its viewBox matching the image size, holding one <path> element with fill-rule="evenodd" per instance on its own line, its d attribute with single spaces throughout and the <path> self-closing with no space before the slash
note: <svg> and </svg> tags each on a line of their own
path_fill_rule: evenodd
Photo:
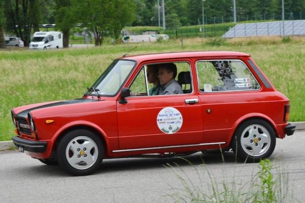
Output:
<svg viewBox="0 0 305 203">
<path fill-rule="evenodd" d="M 45 152 L 47 148 L 47 142 L 26 140 L 18 136 L 13 137 L 12 140 L 17 148 L 21 147 L 24 151 Z"/>
</svg>

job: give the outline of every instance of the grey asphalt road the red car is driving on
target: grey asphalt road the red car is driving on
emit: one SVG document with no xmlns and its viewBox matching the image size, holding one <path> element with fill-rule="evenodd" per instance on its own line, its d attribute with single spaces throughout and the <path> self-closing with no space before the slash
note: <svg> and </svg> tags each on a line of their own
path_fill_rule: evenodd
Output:
<svg viewBox="0 0 305 203">
<path fill-rule="evenodd" d="M 284 186 L 293 192 L 296 202 L 305 199 L 304 147 L 305 131 L 296 131 L 284 140 L 277 139 L 270 157 L 280 168 L 272 171 L 275 177 L 283 170 L 288 173 Z M 184 188 L 178 176 L 189 178 L 190 188 L 192 183 L 208 193 L 210 179 L 234 181 L 246 188 L 258 171 L 257 163 L 236 163 L 232 152 L 224 154 L 225 163 L 218 154 L 204 154 L 205 165 L 200 152 L 184 158 L 193 166 L 177 157 L 109 159 L 94 175 L 72 177 L 59 166 L 44 165 L 26 154 L 0 152 L 0 202 L 173 202 L 168 194 L 181 193 L 179 189 Z M 165 167 L 167 163 L 173 168 Z"/>
</svg>

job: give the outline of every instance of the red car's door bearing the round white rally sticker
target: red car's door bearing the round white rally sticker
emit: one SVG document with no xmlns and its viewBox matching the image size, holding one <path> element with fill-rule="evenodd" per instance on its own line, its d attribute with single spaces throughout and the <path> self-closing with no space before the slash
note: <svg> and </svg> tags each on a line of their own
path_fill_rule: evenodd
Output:
<svg viewBox="0 0 305 203">
<path fill-rule="evenodd" d="M 190 71 L 191 63 L 186 63 Z M 140 83 L 143 84 L 142 87 Z M 193 86 L 193 82 L 191 83 Z M 129 86 L 131 91 L 136 91 L 135 84 L 138 84 L 136 86 L 140 91 L 139 96 L 126 97 L 126 104 L 117 103 L 120 149 L 190 145 L 202 142 L 202 112 L 194 88 L 191 93 L 147 95 L 145 66 L 140 66 L 137 76 Z"/>
</svg>

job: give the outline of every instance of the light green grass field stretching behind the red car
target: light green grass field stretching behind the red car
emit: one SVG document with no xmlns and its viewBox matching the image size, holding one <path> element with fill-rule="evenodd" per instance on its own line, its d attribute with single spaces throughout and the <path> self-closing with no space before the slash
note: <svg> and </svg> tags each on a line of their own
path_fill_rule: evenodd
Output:
<svg viewBox="0 0 305 203">
<path fill-rule="evenodd" d="M 305 121 L 305 38 L 179 40 L 105 45 L 88 49 L 0 51 L 0 141 L 14 135 L 11 109 L 42 101 L 79 98 L 110 62 L 134 46 L 131 54 L 194 50 L 250 53 L 263 72 L 291 100 L 290 121 Z"/>
</svg>

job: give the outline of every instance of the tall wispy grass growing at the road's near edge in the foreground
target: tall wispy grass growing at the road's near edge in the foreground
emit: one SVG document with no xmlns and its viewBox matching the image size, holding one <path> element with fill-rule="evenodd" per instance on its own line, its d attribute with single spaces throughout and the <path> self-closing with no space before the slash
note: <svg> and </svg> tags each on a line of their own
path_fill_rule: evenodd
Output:
<svg viewBox="0 0 305 203">
<path fill-rule="evenodd" d="M 187 159 L 184 160 L 192 165 Z M 167 164 L 166 167 L 180 181 L 180 185 L 169 184 L 172 193 L 166 194 L 174 202 L 297 202 L 293 197 L 292 189 L 289 189 L 288 174 L 283 170 L 283 166 L 279 164 L 275 166 L 275 163 L 270 162 L 269 159 L 261 160 L 258 165 L 259 171 L 257 173 L 253 171 L 252 174 L 249 172 L 251 177 L 246 182 L 242 182 L 235 175 L 230 178 L 231 181 L 227 181 L 225 178 L 222 180 L 219 178 L 220 175 L 212 173 L 205 164 L 199 165 L 199 167 L 204 167 L 204 170 L 201 169 L 200 171 L 197 170 L 198 167 L 192 165 L 196 178 L 194 176 L 191 178 L 176 163 L 175 166 Z M 223 175 L 228 176 L 228 173 L 223 171 Z"/>
</svg>

